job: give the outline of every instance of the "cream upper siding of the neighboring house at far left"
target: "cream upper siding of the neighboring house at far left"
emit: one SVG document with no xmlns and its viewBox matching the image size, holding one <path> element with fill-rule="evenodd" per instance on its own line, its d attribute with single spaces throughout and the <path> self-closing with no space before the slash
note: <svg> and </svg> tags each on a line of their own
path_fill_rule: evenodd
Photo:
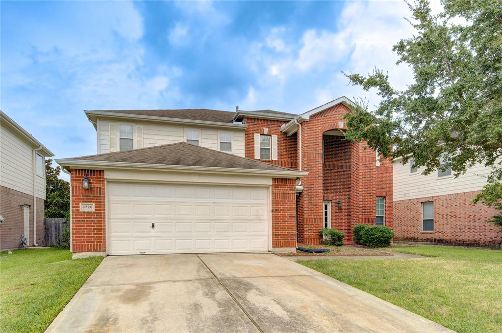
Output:
<svg viewBox="0 0 502 333">
<path fill-rule="evenodd" d="M 33 148 L 6 126 L 0 128 L 0 185 L 33 195 Z M 45 200 L 45 177 L 35 175 L 35 185 Z"/>
</svg>

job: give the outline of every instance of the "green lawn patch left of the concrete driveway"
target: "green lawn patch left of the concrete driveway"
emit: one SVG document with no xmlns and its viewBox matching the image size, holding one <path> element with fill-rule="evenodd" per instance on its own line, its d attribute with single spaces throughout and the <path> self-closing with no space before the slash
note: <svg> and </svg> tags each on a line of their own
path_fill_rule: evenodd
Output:
<svg viewBox="0 0 502 333">
<path fill-rule="evenodd" d="M 43 332 L 102 257 L 71 259 L 55 248 L 2 252 L 0 258 L 0 331 Z"/>
</svg>

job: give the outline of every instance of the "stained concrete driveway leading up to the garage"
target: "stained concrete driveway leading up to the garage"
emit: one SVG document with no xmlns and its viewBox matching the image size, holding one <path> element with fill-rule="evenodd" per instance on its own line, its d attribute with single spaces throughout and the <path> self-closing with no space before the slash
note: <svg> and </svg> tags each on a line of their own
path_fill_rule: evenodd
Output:
<svg viewBox="0 0 502 333">
<path fill-rule="evenodd" d="M 47 332 L 451 332 L 274 254 L 109 256 Z"/>
</svg>

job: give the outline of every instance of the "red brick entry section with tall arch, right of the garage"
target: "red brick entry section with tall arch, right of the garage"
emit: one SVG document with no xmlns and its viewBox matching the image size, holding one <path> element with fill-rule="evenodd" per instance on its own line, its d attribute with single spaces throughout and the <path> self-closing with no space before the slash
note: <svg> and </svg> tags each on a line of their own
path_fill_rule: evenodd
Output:
<svg viewBox="0 0 502 333">
<path fill-rule="evenodd" d="M 342 163 L 334 158 L 329 158 L 325 165 L 328 172 L 323 174 L 323 133 L 329 130 L 345 130 L 346 124 L 343 119 L 349 109 L 342 105 L 336 105 L 310 117 L 309 121 L 302 123 L 302 171 L 309 174 L 303 178 L 303 193 L 299 197 L 299 205 L 302 207 L 299 214 L 298 241 L 301 243 L 318 244 L 320 237 L 319 229 L 322 223 L 322 201 L 332 199 L 332 225 L 343 227 L 345 225 L 345 241 L 352 241 L 352 226 L 357 223 L 374 224 L 376 196 L 386 197 L 386 225 L 393 226 L 392 219 L 392 163 L 382 161 L 381 166 L 376 166 L 375 152 L 365 143 L 350 143 L 350 156 L 346 155 Z M 331 140 L 331 141 L 330 141 Z M 328 153 L 348 154 L 349 146 L 337 143 L 334 139 L 328 139 Z M 299 153 L 299 147 L 298 147 Z M 340 157 L 340 156 L 338 156 Z M 347 162 L 350 160 L 350 166 Z M 338 165 L 337 165 L 338 163 Z M 334 177 L 347 177 L 347 170 L 335 171 L 336 168 L 350 170 L 350 179 L 334 181 Z M 324 181 L 328 184 L 323 186 Z M 344 183 L 341 188 L 335 186 Z M 348 188 L 350 187 L 350 193 Z M 335 196 L 340 196 L 347 201 L 338 211 Z M 340 199 L 340 201 L 342 201 Z M 339 220 L 338 220 L 339 219 Z"/>
</svg>

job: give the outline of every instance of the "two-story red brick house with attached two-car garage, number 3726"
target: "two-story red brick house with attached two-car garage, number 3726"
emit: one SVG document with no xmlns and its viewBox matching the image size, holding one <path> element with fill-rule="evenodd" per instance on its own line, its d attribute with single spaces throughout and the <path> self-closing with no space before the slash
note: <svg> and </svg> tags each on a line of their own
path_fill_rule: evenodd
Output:
<svg viewBox="0 0 502 333">
<path fill-rule="evenodd" d="M 281 251 L 319 243 L 322 227 L 347 242 L 357 223 L 392 227 L 392 163 L 343 140 L 351 105 L 85 111 L 98 154 L 57 161 L 71 173 L 72 251 Z"/>
</svg>

